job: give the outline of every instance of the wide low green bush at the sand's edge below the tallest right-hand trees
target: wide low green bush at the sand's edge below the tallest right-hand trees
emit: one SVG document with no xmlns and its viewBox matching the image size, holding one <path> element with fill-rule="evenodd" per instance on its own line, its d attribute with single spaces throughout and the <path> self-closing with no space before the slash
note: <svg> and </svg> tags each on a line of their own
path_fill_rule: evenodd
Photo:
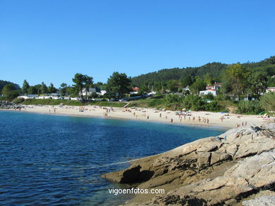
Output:
<svg viewBox="0 0 275 206">
<path fill-rule="evenodd" d="M 259 101 L 240 101 L 238 103 L 238 112 L 240 113 L 252 113 L 259 114 L 264 109 Z"/>
</svg>

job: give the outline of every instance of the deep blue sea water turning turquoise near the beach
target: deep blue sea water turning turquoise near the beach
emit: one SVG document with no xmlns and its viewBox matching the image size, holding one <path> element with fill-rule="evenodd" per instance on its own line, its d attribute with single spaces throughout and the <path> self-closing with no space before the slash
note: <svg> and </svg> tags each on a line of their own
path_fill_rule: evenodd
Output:
<svg viewBox="0 0 275 206">
<path fill-rule="evenodd" d="M 116 164 L 224 129 L 0 111 L 1 205 L 118 205 L 101 178 Z M 22 147 L 22 149 L 21 149 Z"/>
</svg>

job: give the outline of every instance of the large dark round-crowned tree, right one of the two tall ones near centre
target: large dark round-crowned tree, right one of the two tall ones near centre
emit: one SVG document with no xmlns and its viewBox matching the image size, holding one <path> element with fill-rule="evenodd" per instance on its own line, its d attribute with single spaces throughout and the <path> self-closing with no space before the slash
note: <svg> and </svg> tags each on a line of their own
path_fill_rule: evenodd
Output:
<svg viewBox="0 0 275 206">
<path fill-rule="evenodd" d="M 115 98 L 121 98 L 130 91 L 130 79 L 125 73 L 114 72 L 107 81 L 107 91 Z"/>
</svg>

